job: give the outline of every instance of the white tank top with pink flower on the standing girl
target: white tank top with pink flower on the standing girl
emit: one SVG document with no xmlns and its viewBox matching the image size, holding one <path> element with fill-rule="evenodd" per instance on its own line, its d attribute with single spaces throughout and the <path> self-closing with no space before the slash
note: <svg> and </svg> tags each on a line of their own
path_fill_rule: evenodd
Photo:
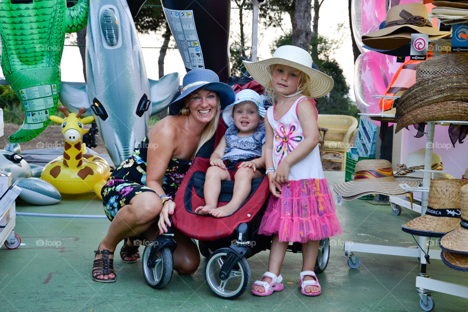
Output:
<svg viewBox="0 0 468 312">
<path fill-rule="evenodd" d="M 310 98 L 304 96 L 297 98 L 288 112 L 286 112 L 284 116 L 277 119 L 274 116 L 274 106 L 267 110 L 268 121 L 273 128 L 274 169 L 278 167 L 278 164 L 282 159 L 284 159 L 284 157 L 288 155 L 288 153 L 291 153 L 292 150 L 304 140 L 304 133 L 299 122 L 299 117 L 297 117 L 297 103 L 299 103 L 304 98 L 312 102 Z M 315 111 L 317 111 L 316 108 Z M 301 180 L 323 178 L 325 178 L 325 176 L 323 174 L 322 161 L 320 160 L 320 151 L 317 144 L 317 146 L 315 146 L 309 155 L 305 156 L 302 160 L 292 165 L 291 171 L 289 173 L 289 179 Z"/>
</svg>

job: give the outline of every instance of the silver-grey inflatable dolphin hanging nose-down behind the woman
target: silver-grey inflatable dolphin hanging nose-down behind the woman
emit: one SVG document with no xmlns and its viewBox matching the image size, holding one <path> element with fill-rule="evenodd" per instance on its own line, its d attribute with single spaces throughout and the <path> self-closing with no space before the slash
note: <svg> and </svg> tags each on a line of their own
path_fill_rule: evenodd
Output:
<svg viewBox="0 0 468 312">
<path fill-rule="evenodd" d="M 141 47 L 125 0 L 93 0 L 86 33 L 87 83 L 62 82 L 60 101 L 70 112 L 92 114 L 112 161 L 131 155 L 147 134 L 150 115 L 174 98 L 179 76 L 147 78 Z"/>
</svg>

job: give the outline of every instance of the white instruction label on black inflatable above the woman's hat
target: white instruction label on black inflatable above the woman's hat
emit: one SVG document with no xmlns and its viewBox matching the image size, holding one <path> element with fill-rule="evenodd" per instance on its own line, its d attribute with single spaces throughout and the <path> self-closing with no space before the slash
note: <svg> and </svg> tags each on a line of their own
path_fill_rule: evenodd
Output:
<svg viewBox="0 0 468 312">
<path fill-rule="evenodd" d="M 200 40 L 195 28 L 194 12 L 192 10 L 171 10 L 164 8 L 166 19 L 185 67 L 205 68 Z"/>
</svg>

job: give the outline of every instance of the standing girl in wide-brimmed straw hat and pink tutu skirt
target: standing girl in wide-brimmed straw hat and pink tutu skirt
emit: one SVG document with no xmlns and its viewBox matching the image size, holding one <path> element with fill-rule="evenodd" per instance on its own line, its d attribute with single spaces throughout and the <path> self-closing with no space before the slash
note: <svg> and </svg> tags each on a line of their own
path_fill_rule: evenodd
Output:
<svg viewBox="0 0 468 312">
<path fill-rule="evenodd" d="M 255 281 L 252 293 L 268 296 L 284 289 L 281 265 L 289 242 L 302 243 L 301 293 L 319 295 L 313 272 L 320 239 L 341 233 L 318 143 L 318 113 L 311 98 L 328 94 L 333 79 L 312 68 L 309 53 L 279 47 L 272 59 L 245 62 L 252 77 L 265 87 L 274 106 L 265 116 L 266 173 L 270 196 L 259 234 L 273 234 L 268 272 Z"/>
</svg>

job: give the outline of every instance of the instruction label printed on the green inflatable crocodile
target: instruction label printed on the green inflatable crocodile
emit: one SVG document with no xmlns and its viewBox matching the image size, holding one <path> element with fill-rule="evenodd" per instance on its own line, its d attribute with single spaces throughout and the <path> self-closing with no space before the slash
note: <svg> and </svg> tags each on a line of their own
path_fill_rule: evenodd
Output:
<svg viewBox="0 0 468 312">
<path fill-rule="evenodd" d="M 30 88 L 20 89 L 18 95 L 23 100 L 24 123 L 22 129 L 35 130 L 43 126 L 43 122 L 49 119 L 49 110 L 54 106 L 53 95 L 57 94 L 57 84 L 45 84 Z"/>
</svg>

